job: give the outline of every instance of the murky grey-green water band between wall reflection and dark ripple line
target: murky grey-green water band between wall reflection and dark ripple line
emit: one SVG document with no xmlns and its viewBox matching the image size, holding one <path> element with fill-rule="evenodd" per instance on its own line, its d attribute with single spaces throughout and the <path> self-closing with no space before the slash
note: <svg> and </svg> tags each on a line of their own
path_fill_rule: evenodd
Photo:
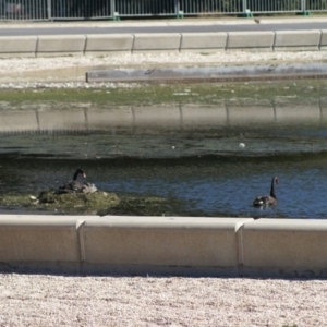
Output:
<svg viewBox="0 0 327 327">
<path fill-rule="evenodd" d="M 327 122 L 246 124 L 162 131 L 111 130 L 74 134 L 3 134 L 0 155 L 104 159 L 178 158 L 206 155 L 262 156 L 326 149 Z M 243 143 L 245 147 L 240 147 Z"/>
</svg>

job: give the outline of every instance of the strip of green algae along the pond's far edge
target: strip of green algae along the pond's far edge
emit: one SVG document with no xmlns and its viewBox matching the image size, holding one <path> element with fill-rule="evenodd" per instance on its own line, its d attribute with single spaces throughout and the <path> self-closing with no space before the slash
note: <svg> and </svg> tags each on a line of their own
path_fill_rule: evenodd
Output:
<svg viewBox="0 0 327 327">
<path fill-rule="evenodd" d="M 172 104 L 213 105 L 238 99 L 282 98 L 290 101 L 317 99 L 326 96 L 324 80 L 300 80 L 296 82 L 240 82 L 240 83 L 190 83 L 190 84 L 117 84 L 110 88 L 37 88 L 0 89 L 0 108 L 60 104 L 62 109 L 74 104 L 96 107 L 150 106 Z M 29 105 L 29 106 L 28 106 Z M 0 109 L 1 110 L 1 109 Z"/>
</svg>

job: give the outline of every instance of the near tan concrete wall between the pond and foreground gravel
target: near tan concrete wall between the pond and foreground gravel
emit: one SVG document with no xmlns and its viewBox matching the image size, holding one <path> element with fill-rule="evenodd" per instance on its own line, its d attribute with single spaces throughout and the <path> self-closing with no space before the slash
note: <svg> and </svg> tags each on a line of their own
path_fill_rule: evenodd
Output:
<svg viewBox="0 0 327 327">
<path fill-rule="evenodd" d="M 327 221 L 0 216 L 0 270 L 327 277 Z"/>
</svg>

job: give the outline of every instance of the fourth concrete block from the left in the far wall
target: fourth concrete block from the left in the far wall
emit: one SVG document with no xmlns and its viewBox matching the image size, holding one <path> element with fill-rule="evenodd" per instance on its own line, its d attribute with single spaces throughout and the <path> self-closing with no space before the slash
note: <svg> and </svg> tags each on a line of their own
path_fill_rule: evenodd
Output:
<svg viewBox="0 0 327 327">
<path fill-rule="evenodd" d="M 181 34 L 135 34 L 133 52 L 173 51 L 180 50 Z"/>
</svg>

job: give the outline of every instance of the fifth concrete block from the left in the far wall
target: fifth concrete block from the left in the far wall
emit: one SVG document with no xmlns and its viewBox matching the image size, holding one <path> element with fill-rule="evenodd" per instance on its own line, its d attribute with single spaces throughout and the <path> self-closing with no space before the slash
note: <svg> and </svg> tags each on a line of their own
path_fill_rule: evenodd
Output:
<svg viewBox="0 0 327 327">
<path fill-rule="evenodd" d="M 227 33 L 182 33 L 181 52 L 217 52 L 226 49 Z"/>
</svg>

